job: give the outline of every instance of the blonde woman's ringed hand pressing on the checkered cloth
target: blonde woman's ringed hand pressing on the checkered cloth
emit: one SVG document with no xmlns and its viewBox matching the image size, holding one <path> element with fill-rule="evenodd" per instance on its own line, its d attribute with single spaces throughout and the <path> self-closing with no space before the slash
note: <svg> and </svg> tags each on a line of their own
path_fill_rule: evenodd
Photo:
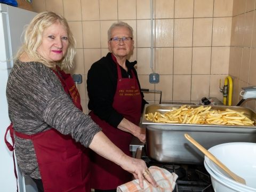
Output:
<svg viewBox="0 0 256 192">
<path fill-rule="evenodd" d="M 151 185 L 157 187 L 155 179 L 149 172 L 146 163 L 141 159 L 136 159 L 123 154 L 122 164 L 124 170 L 132 173 L 135 179 L 139 179 L 140 188 L 143 189 L 143 179 L 146 179 Z"/>
</svg>

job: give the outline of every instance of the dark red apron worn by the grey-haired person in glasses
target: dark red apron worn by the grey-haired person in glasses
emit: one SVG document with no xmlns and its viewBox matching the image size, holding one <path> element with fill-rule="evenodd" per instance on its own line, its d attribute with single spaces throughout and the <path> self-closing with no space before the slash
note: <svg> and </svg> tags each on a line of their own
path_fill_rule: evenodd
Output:
<svg viewBox="0 0 256 192">
<path fill-rule="evenodd" d="M 126 119 L 138 125 L 141 116 L 141 94 L 137 79 L 132 71 L 132 78 L 122 78 L 121 69 L 117 64 L 117 88 L 113 101 L 113 108 Z M 132 134 L 119 130 L 101 120 L 92 111 L 89 114 L 93 121 L 97 123 L 103 133 L 126 155 L 131 156 L 129 145 L 131 143 Z M 91 183 L 94 189 L 116 189 L 117 186 L 129 182 L 132 174 L 123 170 L 119 165 L 99 156 L 91 155 L 92 172 Z"/>
</svg>

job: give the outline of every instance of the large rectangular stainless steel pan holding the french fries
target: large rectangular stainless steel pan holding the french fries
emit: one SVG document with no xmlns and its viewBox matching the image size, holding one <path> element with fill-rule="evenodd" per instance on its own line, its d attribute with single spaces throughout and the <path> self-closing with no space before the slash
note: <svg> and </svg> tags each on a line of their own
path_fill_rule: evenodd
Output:
<svg viewBox="0 0 256 192">
<path fill-rule="evenodd" d="M 170 124 L 147 121 L 145 114 L 165 113 L 182 105 L 150 105 L 143 111 L 141 123 L 146 125 L 147 155 L 158 162 L 201 164 L 204 155 L 185 137 L 188 133 L 206 149 L 227 142 L 256 142 L 256 126 Z M 196 108 L 198 105 L 191 105 Z M 256 114 L 247 108 L 236 106 L 212 106 L 212 109 L 244 111 L 244 115 L 256 121 Z"/>
</svg>

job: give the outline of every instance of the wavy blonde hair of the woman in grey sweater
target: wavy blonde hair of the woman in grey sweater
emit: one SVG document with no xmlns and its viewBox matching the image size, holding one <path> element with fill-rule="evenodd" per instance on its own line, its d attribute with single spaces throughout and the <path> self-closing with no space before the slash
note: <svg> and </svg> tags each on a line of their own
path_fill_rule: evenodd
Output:
<svg viewBox="0 0 256 192">
<path fill-rule="evenodd" d="M 65 57 L 59 62 L 52 62 L 44 59 L 37 52 L 37 49 L 42 44 L 42 36 L 44 30 L 56 22 L 59 22 L 66 28 L 69 45 Z M 61 69 L 70 69 L 73 66 L 73 59 L 76 54 L 75 47 L 76 41 L 73 34 L 71 33 L 67 20 L 54 12 L 42 12 L 37 14 L 26 28 L 24 34 L 24 42 L 19 49 L 16 58 L 19 58 L 23 53 L 26 53 L 30 59 L 33 61 L 41 62 L 47 67 L 52 68 L 55 65 L 58 65 Z"/>
</svg>

